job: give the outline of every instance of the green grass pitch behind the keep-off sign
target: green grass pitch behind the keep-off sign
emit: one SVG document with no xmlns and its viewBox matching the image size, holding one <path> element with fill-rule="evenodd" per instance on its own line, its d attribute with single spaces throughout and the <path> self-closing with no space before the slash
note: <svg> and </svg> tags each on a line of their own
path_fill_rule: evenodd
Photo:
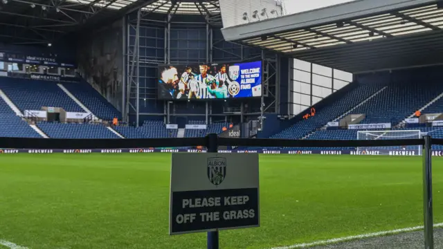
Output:
<svg viewBox="0 0 443 249">
<path fill-rule="evenodd" d="M 433 158 L 435 222 L 442 159 Z M 0 239 L 32 249 L 205 248 L 204 233 L 168 235 L 169 181 L 170 154 L 2 154 Z M 261 227 L 220 232 L 221 248 L 421 225 L 422 158 L 260 155 L 260 201 Z"/>
</svg>

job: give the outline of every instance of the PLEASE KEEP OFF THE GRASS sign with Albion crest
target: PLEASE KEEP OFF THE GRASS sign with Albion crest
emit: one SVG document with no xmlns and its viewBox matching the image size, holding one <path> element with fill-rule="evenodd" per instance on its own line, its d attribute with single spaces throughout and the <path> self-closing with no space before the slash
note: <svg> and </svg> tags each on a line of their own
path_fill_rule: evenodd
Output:
<svg viewBox="0 0 443 249">
<path fill-rule="evenodd" d="M 174 153 L 170 190 L 170 234 L 260 226 L 257 154 Z"/>
</svg>

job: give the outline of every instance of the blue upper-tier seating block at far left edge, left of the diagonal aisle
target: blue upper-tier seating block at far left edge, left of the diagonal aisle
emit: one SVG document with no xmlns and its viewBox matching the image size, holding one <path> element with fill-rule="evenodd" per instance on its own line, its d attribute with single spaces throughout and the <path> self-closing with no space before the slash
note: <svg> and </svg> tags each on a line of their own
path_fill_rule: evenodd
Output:
<svg viewBox="0 0 443 249">
<path fill-rule="evenodd" d="M 21 110 L 62 107 L 65 111 L 84 112 L 55 82 L 2 78 L 0 89 Z"/>
</svg>

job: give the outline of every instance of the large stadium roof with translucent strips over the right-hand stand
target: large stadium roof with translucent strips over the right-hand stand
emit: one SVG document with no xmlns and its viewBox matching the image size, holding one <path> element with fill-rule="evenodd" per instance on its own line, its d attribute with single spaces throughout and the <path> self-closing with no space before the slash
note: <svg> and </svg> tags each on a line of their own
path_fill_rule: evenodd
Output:
<svg viewBox="0 0 443 249">
<path fill-rule="evenodd" d="M 360 0 L 224 28 L 228 41 L 359 73 L 443 63 L 443 2 Z"/>
</svg>

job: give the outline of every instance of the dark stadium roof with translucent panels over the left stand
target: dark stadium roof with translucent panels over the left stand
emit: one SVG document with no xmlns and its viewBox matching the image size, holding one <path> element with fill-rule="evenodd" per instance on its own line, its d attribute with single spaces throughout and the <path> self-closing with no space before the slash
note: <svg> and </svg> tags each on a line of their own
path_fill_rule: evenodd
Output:
<svg viewBox="0 0 443 249">
<path fill-rule="evenodd" d="M 0 39 L 54 42 L 67 33 L 109 25 L 139 8 L 143 16 L 220 15 L 217 0 L 0 0 Z"/>
</svg>

